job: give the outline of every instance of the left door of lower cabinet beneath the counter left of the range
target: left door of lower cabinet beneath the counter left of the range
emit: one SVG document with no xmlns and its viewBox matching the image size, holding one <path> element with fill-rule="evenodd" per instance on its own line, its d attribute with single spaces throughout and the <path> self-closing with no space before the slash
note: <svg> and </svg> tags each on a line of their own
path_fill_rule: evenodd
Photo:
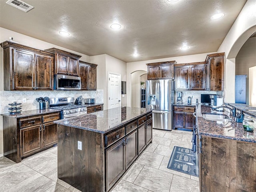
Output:
<svg viewBox="0 0 256 192">
<path fill-rule="evenodd" d="M 30 126 L 20 129 L 20 157 L 42 149 L 42 126 Z"/>
</svg>

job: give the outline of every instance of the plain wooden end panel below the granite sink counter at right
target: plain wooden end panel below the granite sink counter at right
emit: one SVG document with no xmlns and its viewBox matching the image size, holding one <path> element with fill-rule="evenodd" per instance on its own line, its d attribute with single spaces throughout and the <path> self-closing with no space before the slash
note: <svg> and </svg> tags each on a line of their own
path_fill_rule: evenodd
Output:
<svg viewBox="0 0 256 192">
<path fill-rule="evenodd" d="M 255 192 L 256 143 L 202 136 L 200 192 Z"/>
</svg>

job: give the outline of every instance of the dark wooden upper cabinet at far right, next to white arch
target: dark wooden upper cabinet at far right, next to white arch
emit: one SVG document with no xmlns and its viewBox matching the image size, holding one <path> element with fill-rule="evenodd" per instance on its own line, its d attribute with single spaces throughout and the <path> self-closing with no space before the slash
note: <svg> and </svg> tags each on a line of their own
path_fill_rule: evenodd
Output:
<svg viewBox="0 0 256 192">
<path fill-rule="evenodd" d="M 224 90 L 225 53 L 210 54 L 206 57 L 206 90 Z"/>
</svg>

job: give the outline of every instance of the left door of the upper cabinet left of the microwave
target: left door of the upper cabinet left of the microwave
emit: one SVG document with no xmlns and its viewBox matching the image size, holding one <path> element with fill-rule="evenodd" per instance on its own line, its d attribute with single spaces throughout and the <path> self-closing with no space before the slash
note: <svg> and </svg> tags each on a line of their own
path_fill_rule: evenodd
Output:
<svg viewBox="0 0 256 192">
<path fill-rule="evenodd" d="M 13 49 L 14 51 L 14 90 L 33 90 L 35 82 L 34 53 Z"/>
</svg>

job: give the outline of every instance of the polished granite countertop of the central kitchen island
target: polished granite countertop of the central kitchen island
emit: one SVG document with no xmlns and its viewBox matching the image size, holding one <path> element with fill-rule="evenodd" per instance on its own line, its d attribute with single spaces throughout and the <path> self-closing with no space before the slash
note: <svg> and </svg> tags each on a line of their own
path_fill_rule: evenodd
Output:
<svg viewBox="0 0 256 192">
<path fill-rule="evenodd" d="M 106 133 L 110 130 L 122 126 L 130 120 L 134 120 L 152 109 L 137 107 L 118 107 L 92 114 L 84 114 L 72 118 L 54 121 L 56 124 L 71 126 L 94 132 Z"/>
</svg>

